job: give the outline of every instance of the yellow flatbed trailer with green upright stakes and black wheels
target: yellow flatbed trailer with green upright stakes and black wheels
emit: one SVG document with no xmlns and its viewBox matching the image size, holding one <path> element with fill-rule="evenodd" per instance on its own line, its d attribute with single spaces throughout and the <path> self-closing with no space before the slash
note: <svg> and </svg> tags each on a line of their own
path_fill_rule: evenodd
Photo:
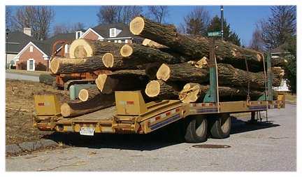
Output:
<svg viewBox="0 0 302 177">
<path fill-rule="evenodd" d="M 212 40 L 211 40 L 212 41 Z M 229 137 L 231 113 L 255 113 L 268 109 L 285 108 L 285 96 L 273 97 L 271 59 L 267 55 L 266 90 L 257 100 L 220 101 L 215 48 L 210 45 L 210 88 L 203 101 L 184 103 L 178 99 L 145 102 L 141 90 L 115 91 L 115 106 L 99 111 L 64 117 L 56 95 L 35 95 L 34 127 L 41 131 L 76 132 L 83 136 L 99 133 L 148 134 L 168 125 L 178 127 L 174 134 L 188 143 Z M 106 101 L 106 100 L 104 100 Z"/>
</svg>

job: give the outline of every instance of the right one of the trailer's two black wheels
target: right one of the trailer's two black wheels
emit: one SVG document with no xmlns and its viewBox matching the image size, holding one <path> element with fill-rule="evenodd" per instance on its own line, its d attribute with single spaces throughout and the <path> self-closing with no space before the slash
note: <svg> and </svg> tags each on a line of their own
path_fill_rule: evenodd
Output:
<svg viewBox="0 0 302 177">
<path fill-rule="evenodd" d="M 209 120 L 210 133 L 213 139 L 226 139 L 231 132 L 231 117 L 228 113 L 220 113 Z"/>
</svg>

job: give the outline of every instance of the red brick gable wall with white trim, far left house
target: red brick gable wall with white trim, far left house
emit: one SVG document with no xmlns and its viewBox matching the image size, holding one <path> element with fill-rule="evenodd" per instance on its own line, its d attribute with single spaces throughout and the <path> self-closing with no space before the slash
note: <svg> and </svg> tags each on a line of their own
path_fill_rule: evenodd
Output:
<svg viewBox="0 0 302 177">
<path fill-rule="evenodd" d="M 22 62 L 25 62 L 25 64 L 27 64 L 27 60 L 29 59 L 34 59 L 35 60 L 35 64 L 37 65 L 39 62 L 41 62 L 41 64 L 44 64 L 45 66 L 47 66 L 48 64 L 48 60 L 44 60 L 43 59 L 43 54 L 33 46 L 33 52 L 30 52 L 30 46 L 24 50 L 24 52 L 22 52 L 22 54 L 20 55 L 19 61 L 17 62 L 17 68 L 16 69 L 21 69 L 20 68 L 20 64 Z"/>
</svg>

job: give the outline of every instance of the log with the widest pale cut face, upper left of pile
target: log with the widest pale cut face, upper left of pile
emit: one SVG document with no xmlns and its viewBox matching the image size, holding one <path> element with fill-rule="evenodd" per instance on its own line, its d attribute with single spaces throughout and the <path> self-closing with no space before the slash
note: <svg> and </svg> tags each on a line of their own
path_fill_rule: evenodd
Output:
<svg viewBox="0 0 302 177">
<path fill-rule="evenodd" d="M 69 57 L 86 58 L 94 55 L 103 55 L 106 52 L 119 51 L 121 43 L 108 43 L 107 41 L 97 41 L 89 39 L 75 39 L 69 48 Z"/>
</svg>

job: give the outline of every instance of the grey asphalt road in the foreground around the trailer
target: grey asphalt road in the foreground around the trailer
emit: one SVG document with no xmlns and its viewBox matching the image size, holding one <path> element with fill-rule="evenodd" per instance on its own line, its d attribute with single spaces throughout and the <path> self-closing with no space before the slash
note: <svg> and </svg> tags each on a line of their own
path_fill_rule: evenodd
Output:
<svg viewBox="0 0 302 177">
<path fill-rule="evenodd" d="M 71 148 L 6 158 L 6 171 L 296 171 L 296 105 L 268 111 L 271 124 L 233 119 L 228 139 L 173 143 L 166 134 L 62 137 Z M 55 138 L 54 138 L 55 139 Z M 225 145 L 195 148 L 194 145 Z"/>
</svg>

